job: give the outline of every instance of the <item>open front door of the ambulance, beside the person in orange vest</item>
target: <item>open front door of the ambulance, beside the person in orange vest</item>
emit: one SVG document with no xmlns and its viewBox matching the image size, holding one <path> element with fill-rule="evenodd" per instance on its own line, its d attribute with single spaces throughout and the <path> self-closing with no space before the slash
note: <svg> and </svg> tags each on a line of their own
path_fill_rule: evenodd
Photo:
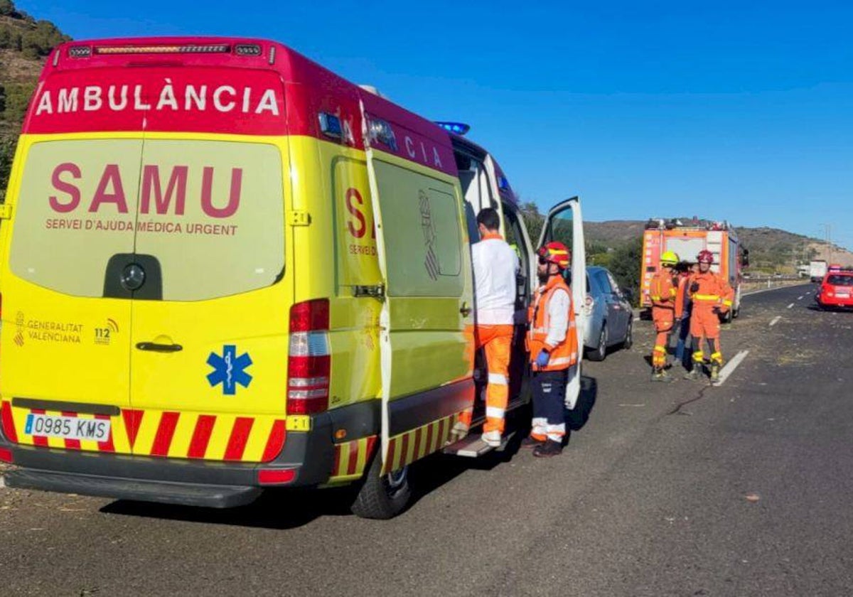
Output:
<svg viewBox="0 0 853 597">
<path fill-rule="evenodd" d="M 587 321 L 583 310 L 586 300 L 586 247 L 583 242 L 583 217 L 581 204 L 577 197 L 558 203 L 548 212 L 539 237 L 537 248 L 547 242 L 560 241 L 572 251 L 572 308 L 575 311 L 577 325 L 577 366 L 569 373 L 566 385 L 566 405 L 573 408 L 581 389 L 581 362 L 583 360 L 583 335 Z"/>
</svg>

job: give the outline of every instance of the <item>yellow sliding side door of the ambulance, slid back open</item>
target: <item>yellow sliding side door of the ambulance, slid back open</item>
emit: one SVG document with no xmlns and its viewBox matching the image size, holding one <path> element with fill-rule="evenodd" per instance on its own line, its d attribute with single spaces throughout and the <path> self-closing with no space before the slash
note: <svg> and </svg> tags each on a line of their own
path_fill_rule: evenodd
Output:
<svg viewBox="0 0 853 597">
<path fill-rule="evenodd" d="M 384 287 L 380 437 L 390 473 L 441 449 L 455 415 L 473 406 L 473 282 L 458 180 L 383 151 L 368 131 L 393 123 L 364 107 L 363 117 Z"/>
</svg>

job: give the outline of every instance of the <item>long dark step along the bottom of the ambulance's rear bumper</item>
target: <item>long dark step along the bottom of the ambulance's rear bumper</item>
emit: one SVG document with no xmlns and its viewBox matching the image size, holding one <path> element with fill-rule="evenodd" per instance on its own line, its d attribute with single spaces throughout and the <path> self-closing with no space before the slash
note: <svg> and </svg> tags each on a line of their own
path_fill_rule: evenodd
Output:
<svg viewBox="0 0 853 597">
<path fill-rule="evenodd" d="M 18 469 L 3 475 L 7 487 L 58 491 L 118 500 L 157 501 L 181 506 L 235 507 L 255 501 L 260 487 L 168 483 L 136 478 L 95 477 Z"/>
</svg>

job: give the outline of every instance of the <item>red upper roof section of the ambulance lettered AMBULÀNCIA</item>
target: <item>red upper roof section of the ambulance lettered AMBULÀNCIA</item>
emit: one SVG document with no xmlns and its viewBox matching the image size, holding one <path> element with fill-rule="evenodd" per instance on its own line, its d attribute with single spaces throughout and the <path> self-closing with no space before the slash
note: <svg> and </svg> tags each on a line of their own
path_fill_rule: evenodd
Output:
<svg viewBox="0 0 853 597">
<path fill-rule="evenodd" d="M 257 44 L 259 55 L 236 55 Z M 164 46 L 228 46 L 227 52 L 162 52 Z M 145 48 L 148 52 L 120 53 Z M 89 48 L 88 57 L 72 50 Z M 104 51 L 110 53 L 103 53 Z M 281 43 L 252 38 L 118 38 L 63 43 L 49 56 L 23 132 L 163 131 L 305 135 L 364 148 L 363 101 L 394 142 L 372 145 L 456 175 L 448 133 Z M 324 136 L 319 114 L 340 119 L 344 138 Z"/>
</svg>

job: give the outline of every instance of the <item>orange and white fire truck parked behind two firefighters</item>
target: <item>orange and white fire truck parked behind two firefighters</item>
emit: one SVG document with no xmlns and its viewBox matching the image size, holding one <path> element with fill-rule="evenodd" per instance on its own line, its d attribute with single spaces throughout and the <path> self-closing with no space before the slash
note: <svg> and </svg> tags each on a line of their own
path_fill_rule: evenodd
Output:
<svg viewBox="0 0 853 597">
<path fill-rule="evenodd" d="M 693 263 L 699 251 L 705 249 L 714 254 L 711 271 L 722 275 L 734 290 L 734 304 L 722 317 L 727 322 L 737 317 L 740 313 L 740 283 L 743 269 L 749 264 L 749 251 L 740 244 L 734 226 L 726 221 L 698 217 L 690 220 L 651 218 L 646 223 L 642 240 L 640 306 L 652 307 L 648 288 L 660 267 L 661 254 L 672 251 L 682 261 Z"/>
</svg>

